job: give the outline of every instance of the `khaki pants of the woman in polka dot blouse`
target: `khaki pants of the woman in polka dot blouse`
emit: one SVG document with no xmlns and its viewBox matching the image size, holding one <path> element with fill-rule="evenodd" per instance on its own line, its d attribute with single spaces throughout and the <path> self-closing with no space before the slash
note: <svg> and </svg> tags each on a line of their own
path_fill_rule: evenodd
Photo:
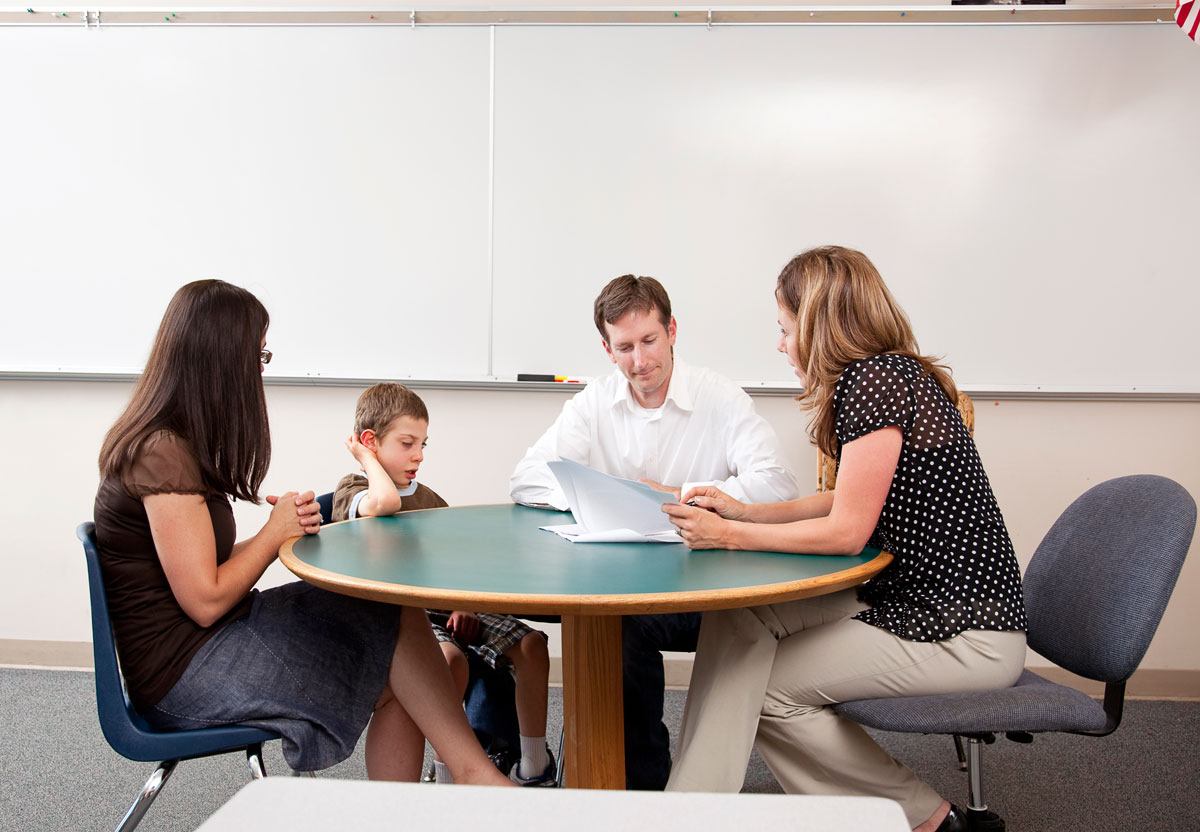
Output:
<svg viewBox="0 0 1200 832">
<path fill-rule="evenodd" d="M 906 641 L 850 616 L 854 589 L 706 612 L 667 790 L 739 791 L 750 749 L 785 792 L 874 795 L 924 822 L 941 796 L 829 705 L 1013 684 L 1025 633 Z"/>
</svg>

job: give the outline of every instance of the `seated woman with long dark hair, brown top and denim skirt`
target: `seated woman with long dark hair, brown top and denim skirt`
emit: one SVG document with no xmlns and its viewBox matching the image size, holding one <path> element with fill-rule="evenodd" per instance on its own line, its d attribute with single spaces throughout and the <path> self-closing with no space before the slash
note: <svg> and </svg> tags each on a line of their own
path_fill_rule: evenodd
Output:
<svg viewBox="0 0 1200 832">
<path fill-rule="evenodd" d="M 284 540 L 320 527 L 313 493 L 289 491 L 234 543 L 229 499 L 259 503 L 271 457 L 268 323 L 245 289 L 184 286 L 104 438 L 96 539 L 133 706 L 164 729 L 277 731 L 298 771 L 349 756 L 370 720 L 374 779 L 418 779 L 427 736 L 456 782 L 511 785 L 470 731 L 422 610 L 302 582 L 253 588 Z"/>
</svg>

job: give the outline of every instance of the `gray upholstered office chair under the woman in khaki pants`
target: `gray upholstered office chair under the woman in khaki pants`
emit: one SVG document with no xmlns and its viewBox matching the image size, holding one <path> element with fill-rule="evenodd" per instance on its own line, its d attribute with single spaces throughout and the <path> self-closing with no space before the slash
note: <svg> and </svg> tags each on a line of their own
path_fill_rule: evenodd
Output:
<svg viewBox="0 0 1200 832">
<path fill-rule="evenodd" d="M 983 746 L 1001 732 L 1032 742 L 1044 731 L 1103 737 L 1117 729 L 1126 681 L 1163 617 L 1195 523 L 1195 501 L 1177 483 L 1121 477 L 1072 503 L 1033 553 L 1024 581 L 1030 647 L 1104 682 L 1103 705 L 1026 670 L 1001 690 L 865 699 L 835 710 L 884 731 L 954 735 L 967 771 L 968 826 L 1002 831 L 983 798 Z"/>
</svg>

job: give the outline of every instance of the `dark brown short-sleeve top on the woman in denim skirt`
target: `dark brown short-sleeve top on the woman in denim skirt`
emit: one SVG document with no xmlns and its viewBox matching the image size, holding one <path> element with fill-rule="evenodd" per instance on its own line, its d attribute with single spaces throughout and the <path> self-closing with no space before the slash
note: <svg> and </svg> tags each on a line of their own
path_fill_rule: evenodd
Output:
<svg viewBox="0 0 1200 832">
<path fill-rule="evenodd" d="M 211 627 L 192 621 L 175 600 L 158 562 L 142 498 L 202 495 L 212 519 L 217 563 L 233 553 L 236 534 L 228 497 L 204 484 L 191 445 L 169 431 L 151 435 L 119 478 L 96 491 L 94 516 L 121 672 L 133 707 L 148 711 L 179 681 L 188 662 L 222 627 L 250 611 L 251 595 Z"/>
</svg>

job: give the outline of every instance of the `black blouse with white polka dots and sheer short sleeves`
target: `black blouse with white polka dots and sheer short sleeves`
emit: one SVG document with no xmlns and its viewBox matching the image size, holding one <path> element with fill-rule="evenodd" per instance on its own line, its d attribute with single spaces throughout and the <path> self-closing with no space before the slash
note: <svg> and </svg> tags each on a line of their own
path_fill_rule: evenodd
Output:
<svg viewBox="0 0 1200 832">
<path fill-rule="evenodd" d="M 884 354 L 846 367 L 834 391 L 839 447 L 904 431 L 892 490 L 870 545 L 895 559 L 856 616 L 912 641 L 964 630 L 1024 630 L 1021 573 L 1004 519 L 958 408 L 920 364 Z"/>
</svg>

